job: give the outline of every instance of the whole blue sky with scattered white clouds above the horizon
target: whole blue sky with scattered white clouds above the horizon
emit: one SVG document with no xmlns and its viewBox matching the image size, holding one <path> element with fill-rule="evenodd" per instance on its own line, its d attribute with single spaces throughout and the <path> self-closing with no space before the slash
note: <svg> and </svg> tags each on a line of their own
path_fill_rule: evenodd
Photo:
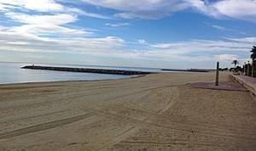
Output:
<svg viewBox="0 0 256 151">
<path fill-rule="evenodd" d="M 253 45 L 256 0 L 0 0 L 0 61 L 212 69 Z"/>
</svg>

